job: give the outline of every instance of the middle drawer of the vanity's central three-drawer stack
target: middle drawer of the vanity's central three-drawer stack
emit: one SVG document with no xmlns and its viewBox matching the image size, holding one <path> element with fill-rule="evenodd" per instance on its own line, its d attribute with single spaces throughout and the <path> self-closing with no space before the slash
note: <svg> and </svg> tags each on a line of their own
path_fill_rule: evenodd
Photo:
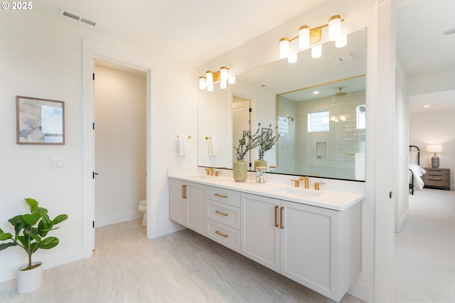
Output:
<svg viewBox="0 0 455 303">
<path fill-rule="evenodd" d="M 240 230 L 240 208 L 212 200 L 205 200 L 206 218 Z"/>
</svg>

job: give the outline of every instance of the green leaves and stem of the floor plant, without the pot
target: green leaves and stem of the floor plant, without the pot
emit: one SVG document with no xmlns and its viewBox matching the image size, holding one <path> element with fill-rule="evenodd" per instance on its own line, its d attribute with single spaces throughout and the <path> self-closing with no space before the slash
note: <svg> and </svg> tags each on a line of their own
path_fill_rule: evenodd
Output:
<svg viewBox="0 0 455 303">
<path fill-rule="evenodd" d="M 30 213 L 18 215 L 8 220 L 14 226 L 14 236 L 11 233 L 4 233 L 0 228 L 0 241 L 9 241 L 0 244 L 0 250 L 12 246 L 19 246 L 28 255 L 28 267 L 24 270 L 31 270 L 31 256 L 38 249 L 48 250 L 58 245 L 58 238 L 44 238 L 50 230 L 55 230 L 55 225 L 68 219 L 67 215 L 58 215 L 53 220 L 48 216 L 48 210 L 38 206 L 38 201 L 32 198 L 25 198 Z"/>
</svg>

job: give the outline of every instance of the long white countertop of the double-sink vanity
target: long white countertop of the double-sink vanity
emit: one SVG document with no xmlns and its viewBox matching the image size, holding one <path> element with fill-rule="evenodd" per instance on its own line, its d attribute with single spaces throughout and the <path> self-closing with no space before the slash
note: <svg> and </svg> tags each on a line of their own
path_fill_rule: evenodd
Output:
<svg viewBox="0 0 455 303">
<path fill-rule="evenodd" d="M 335 211 L 343 211 L 350 206 L 363 200 L 365 195 L 362 193 L 349 193 L 346 191 L 331 191 L 321 189 L 305 189 L 303 187 L 293 187 L 279 183 L 257 183 L 247 180 L 245 182 L 235 182 L 230 176 L 205 176 L 204 174 L 168 174 L 171 179 L 188 181 L 208 186 L 218 186 L 221 188 L 232 189 L 252 193 L 259 196 L 267 196 L 296 203 L 303 203 L 310 206 L 329 208 Z"/>
</svg>

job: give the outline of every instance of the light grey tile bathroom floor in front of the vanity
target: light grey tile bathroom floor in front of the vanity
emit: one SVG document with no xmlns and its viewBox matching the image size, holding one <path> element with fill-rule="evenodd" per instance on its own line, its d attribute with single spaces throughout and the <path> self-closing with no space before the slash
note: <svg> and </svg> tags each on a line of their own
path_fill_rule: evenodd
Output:
<svg viewBox="0 0 455 303">
<path fill-rule="evenodd" d="M 0 302 L 333 302 L 191 230 L 148 240 L 139 219 L 96 239 L 92 257 L 45 270 L 35 292 L 1 283 Z"/>
</svg>

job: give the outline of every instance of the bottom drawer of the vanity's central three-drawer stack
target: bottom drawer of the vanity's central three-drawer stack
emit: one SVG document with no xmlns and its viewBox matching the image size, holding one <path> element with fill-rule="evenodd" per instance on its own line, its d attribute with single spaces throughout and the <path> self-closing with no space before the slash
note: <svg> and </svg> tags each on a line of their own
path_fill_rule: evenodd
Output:
<svg viewBox="0 0 455 303">
<path fill-rule="evenodd" d="M 225 247 L 231 250 L 240 252 L 240 230 L 230 228 L 210 219 L 205 220 L 205 222 L 207 224 L 205 235 L 208 238 L 221 245 L 225 245 Z"/>
</svg>

